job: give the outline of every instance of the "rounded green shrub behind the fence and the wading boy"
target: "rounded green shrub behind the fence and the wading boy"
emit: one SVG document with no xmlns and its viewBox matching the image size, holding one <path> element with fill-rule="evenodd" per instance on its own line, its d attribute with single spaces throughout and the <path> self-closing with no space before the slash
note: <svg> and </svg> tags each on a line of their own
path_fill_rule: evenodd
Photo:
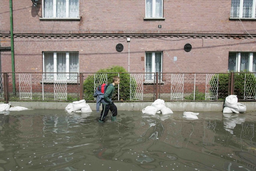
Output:
<svg viewBox="0 0 256 171">
<path fill-rule="evenodd" d="M 130 90 L 130 74 L 129 73 L 120 73 L 120 72 L 127 72 L 122 66 L 112 66 L 110 68 L 106 69 L 99 69 L 97 73 L 107 73 L 107 84 L 111 84 L 113 82 L 113 77 L 115 75 L 118 75 L 117 73 L 112 72 L 118 72 L 120 77 L 120 84 L 119 84 L 119 99 L 120 100 L 130 100 L 130 96 L 134 96 L 136 93 L 136 80 L 132 77 L 131 83 L 132 85 L 135 85 Z M 100 77 L 100 75 L 96 75 L 97 77 Z M 103 82 L 102 82 L 103 83 Z M 100 84 L 102 84 L 100 83 Z M 94 94 L 94 75 L 88 76 L 84 80 L 84 98 L 86 100 L 94 100 L 93 94 Z M 98 86 L 98 85 L 96 85 Z M 112 97 L 112 100 L 118 100 L 118 86 L 115 86 L 115 91 Z"/>
</svg>

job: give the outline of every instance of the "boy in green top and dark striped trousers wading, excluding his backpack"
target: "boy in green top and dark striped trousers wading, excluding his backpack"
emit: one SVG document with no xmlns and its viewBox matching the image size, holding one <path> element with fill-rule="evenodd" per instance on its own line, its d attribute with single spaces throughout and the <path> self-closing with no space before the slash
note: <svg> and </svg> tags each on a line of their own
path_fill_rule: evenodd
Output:
<svg viewBox="0 0 256 171">
<path fill-rule="evenodd" d="M 113 77 L 113 83 L 109 84 L 107 87 L 106 92 L 104 93 L 104 99 L 101 101 L 102 104 L 102 111 L 100 114 L 99 122 L 103 122 L 105 117 L 108 115 L 108 111 L 110 110 L 112 113 L 111 121 L 116 120 L 117 116 L 117 107 L 112 102 L 111 98 L 113 96 L 115 85 L 118 85 L 120 83 L 120 78 L 118 76 Z"/>
</svg>

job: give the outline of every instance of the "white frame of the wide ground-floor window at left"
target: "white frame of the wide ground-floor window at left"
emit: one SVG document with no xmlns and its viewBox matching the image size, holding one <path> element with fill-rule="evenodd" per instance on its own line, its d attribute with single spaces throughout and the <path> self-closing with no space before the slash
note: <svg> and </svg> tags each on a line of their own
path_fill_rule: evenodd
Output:
<svg viewBox="0 0 256 171">
<path fill-rule="evenodd" d="M 45 51 L 45 52 L 48 52 L 48 51 Z M 43 72 L 44 71 L 44 53 L 43 52 Z M 53 72 L 54 72 L 54 80 L 57 81 L 57 53 L 59 52 L 51 52 L 53 53 Z M 61 53 L 64 53 L 64 52 L 61 52 Z M 66 72 L 69 72 L 69 53 L 74 53 L 74 52 L 65 52 L 66 53 Z M 78 53 L 78 73 L 79 73 L 79 52 L 76 52 Z M 66 74 L 66 78 L 67 80 L 69 80 L 69 73 Z M 45 77 L 44 77 L 45 79 Z M 53 80 L 53 79 L 45 79 L 45 80 Z M 77 80 L 77 79 L 75 79 Z M 63 80 L 58 80 L 58 81 L 63 81 Z"/>
</svg>

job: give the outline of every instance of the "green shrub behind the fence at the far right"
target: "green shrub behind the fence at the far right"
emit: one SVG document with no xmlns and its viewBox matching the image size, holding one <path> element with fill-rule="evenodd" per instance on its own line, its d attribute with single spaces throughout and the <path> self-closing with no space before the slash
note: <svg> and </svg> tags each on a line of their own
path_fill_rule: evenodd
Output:
<svg viewBox="0 0 256 171">
<path fill-rule="evenodd" d="M 240 73 L 234 73 L 234 95 L 237 95 L 239 100 L 243 100 L 245 97 L 253 97 L 255 96 L 256 91 L 256 78 L 253 73 L 243 73 L 246 71 L 242 71 Z M 245 75 L 246 75 L 246 83 L 245 83 Z M 218 79 L 218 81 L 217 81 Z M 225 99 L 229 96 L 229 84 L 230 75 L 229 74 L 219 74 L 219 78 L 217 75 L 212 77 L 210 81 L 211 85 L 211 93 L 217 93 L 217 89 L 214 83 L 218 82 L 218 99 Z M 249 87 L 245 89 L 245 87 Z"/>
</svg>

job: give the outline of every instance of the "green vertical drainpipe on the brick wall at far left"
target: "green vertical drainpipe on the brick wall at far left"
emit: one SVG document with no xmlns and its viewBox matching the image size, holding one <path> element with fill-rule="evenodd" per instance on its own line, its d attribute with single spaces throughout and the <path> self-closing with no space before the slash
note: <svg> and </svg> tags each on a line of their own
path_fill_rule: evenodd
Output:
<svg viewBox="0 0 256 171">
<path fill-rule="evenodd" d="M 12 73 L 12 89 L 13 93 L 16 94 L 15 90 L 15 69 L 14 69 L 14 39 L 13 39 L 13 16 L 12 16 L 12 0 L 9 0 L 10 4 L 10 30 L 11 30 L 11 71 Z"/>
</svg>

